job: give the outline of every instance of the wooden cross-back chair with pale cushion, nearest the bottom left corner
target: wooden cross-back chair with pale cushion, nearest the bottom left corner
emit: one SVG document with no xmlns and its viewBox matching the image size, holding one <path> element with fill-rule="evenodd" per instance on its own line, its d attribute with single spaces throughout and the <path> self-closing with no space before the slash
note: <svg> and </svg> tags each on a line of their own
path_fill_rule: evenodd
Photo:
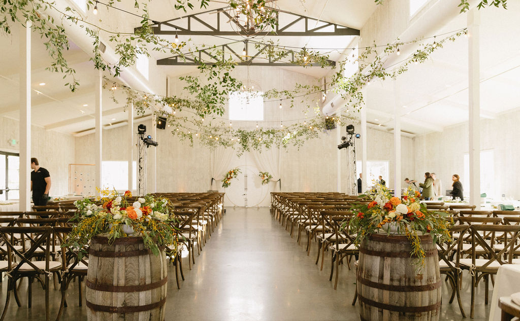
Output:
<svg viewBox="0 0 520 321">
<path fill-rule="evenodd" d="M 50 260 L 50 240 L 53 234 L 53 228 L 50 226 L 1 226 L 0 234 L 8 246 L 8 285 L 6 303 L 0 321 L 4 320 L 9 307 L 11 292 L 14 293 L 16 303 L 21 306 L 16 289 L 18 279 L 27 277 L 29 279 L 28 288 L 28 305 L 32 306 L 32 283 L 37 279 L 42 283 L 45 290 L 45 317 L 49 321 L 49 277 L 54 272 L 61 270 L 61 262 Z M 13 235 L 23 235 L 25 239 L 30 240 L 30 247 L 25 251 L 17 250 L 15 245 L 11 243 Z M 36 250 L 44 249 L 43 260 L 36 259 Z M 40 257 L 41 258 L 41 257 Z"/>
</svg>

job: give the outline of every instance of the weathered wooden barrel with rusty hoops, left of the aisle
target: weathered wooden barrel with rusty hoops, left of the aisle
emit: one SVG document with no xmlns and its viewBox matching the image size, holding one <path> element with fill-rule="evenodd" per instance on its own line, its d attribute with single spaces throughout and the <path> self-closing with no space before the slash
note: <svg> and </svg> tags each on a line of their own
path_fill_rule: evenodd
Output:
<svg viewBox="0 0 520 321">
<path fill-rule="evenodd" d="M 142 237 L 122 237 L 109 244 L 90 241 L 86 303 L 88 321 L 164 321 L 166 255 L 145 248 Z"/>
</svg>

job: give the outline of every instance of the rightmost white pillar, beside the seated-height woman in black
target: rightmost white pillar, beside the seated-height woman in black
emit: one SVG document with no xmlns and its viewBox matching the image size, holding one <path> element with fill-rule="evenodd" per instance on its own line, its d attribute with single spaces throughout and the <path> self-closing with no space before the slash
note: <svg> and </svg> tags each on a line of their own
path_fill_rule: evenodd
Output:
<svg viewBox="0 0 520 321">
<path fill-rule="evenodd" d="M 467 15 L 469 32 L 469 138 L 470 203 L 480 209 L 480 12 L 473 8 Z"/>
</svg>

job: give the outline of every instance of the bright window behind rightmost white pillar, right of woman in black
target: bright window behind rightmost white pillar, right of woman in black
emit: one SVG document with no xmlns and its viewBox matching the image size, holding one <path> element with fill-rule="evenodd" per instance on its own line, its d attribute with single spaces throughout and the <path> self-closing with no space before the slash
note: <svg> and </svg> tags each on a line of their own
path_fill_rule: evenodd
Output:
<svg viewBox="0 0 520 321">
<path fill-rule="evenodd" d="M 460 174 L 459 174 L 460 175 Z M 495 154 L 493 150 L 480 151 L 480 193 L 495 197 Z M 470 193 L 470 154 L 464 154 L 464 177 L 461 177 L 464 195 Z"/>
</svg>

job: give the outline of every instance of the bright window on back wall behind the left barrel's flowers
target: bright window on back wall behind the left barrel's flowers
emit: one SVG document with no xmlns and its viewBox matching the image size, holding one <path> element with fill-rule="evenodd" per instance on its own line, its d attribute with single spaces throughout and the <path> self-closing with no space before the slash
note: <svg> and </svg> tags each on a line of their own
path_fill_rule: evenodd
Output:
<svg viewBox="0 0 520 321">
<path fill-rule="evenodd" d="M 137 190 L 137 162 L 132 164 L 132 189 Z M 128 161 L 103 160 L 101 163 L 101 185 L 103 189 L 128 190 Z"/>
</svg>

